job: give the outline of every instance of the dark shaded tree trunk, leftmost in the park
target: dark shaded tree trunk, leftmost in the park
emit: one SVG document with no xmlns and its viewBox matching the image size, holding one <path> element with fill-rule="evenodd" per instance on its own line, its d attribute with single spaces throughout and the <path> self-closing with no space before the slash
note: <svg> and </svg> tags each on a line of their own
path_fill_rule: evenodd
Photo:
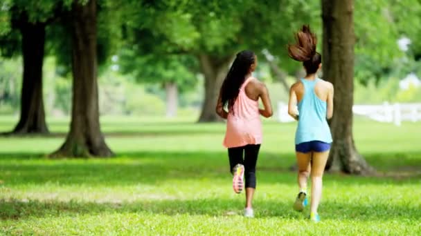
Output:
<svg viewBox="0 0 421 236">
<path fill-rule="evenodd" d="M 44 62 L 44 23 L 21 23 L 24 73 L 21 90 L 20 119 L 12 133 L 48 133 L 42 95 Z"/>
</svg>

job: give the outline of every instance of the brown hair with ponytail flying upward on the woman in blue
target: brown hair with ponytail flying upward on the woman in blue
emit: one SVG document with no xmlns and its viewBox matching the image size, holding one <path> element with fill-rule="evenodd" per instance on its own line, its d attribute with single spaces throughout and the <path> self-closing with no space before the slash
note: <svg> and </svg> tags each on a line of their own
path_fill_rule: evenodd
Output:
<svg viewBox="0 0 421 236">
<path fill-rule="evenodd" d="M 288 55 L 296 61 L 303 61 L 307 74 L 313 74 L 319 69 L 321 55 L 316 52 L 317 38 L 310 30 L 310 26 L 304 25 L 295 34 L 296 43 L 288 45 Z"/>
</svg>

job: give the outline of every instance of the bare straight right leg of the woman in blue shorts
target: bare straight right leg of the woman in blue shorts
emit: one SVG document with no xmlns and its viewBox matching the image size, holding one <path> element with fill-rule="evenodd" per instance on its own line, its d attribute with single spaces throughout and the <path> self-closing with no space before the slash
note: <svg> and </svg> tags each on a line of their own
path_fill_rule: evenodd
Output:
<svg viewBox="0 0 421 236">
<path fill-rule="evenodd" d="M 312 202 L 310 204 L 310 213 L 317 215 L 317 208 L 321 200 L 323 186 L 323 172 L 326 161 L 328 161 L 329 150 L 321 153 L 313 153 L 312 158 Z"/>
</svg>

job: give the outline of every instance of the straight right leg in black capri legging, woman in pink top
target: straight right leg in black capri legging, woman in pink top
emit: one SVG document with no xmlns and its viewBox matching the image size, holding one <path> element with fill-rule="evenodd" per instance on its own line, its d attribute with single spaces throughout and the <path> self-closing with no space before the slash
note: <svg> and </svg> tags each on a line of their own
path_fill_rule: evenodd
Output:
<svg viewBox="0 0 421 236">
<path fill-rule="evenodd" d="M 252 208 L 254 190 L 256 189 L 256 164 L 260 144 L 247 145 L 244 148 L 244 168 L 246 179 L 246 208 Z"/>
</svg>

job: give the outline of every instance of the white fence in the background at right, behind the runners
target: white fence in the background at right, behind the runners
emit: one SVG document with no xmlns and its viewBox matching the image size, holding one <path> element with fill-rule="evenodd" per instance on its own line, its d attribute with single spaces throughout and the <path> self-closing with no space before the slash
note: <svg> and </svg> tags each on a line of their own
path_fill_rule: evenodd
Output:
<svg viewBox="0 0 421 236">
<path fill-rule="evenodd" d="M 388 104 L 381 105 L 354 105 L 354 115 L 361 115 L 379 122 L 393 123 L 400 126 L 402 121 L 421 121 L 421 104 Z M 278 103 L 278 121 L 294 121 L 288 115 L 288 105 Z"/>
</svg>

